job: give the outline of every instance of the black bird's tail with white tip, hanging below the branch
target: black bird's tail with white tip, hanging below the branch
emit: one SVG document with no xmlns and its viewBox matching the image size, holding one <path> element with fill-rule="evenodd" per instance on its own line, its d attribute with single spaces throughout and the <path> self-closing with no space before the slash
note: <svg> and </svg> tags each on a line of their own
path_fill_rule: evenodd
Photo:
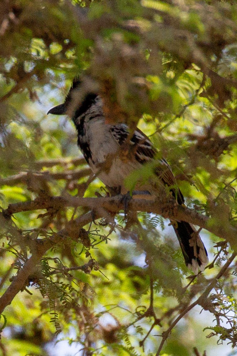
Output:
<svg viewBox="0 0 237 356">
<path fill-rule="evenodd" d="M 175 221 L 172 224 L 178 237 L 186 266 L 194 273 L 204 270 L 208 263 L 206 248 L 196 230 L 185 221 Z"/>
</svg>

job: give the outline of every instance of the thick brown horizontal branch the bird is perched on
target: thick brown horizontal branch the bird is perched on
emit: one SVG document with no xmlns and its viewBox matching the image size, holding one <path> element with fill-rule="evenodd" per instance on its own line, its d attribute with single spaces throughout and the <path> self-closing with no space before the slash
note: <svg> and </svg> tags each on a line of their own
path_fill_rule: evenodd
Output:
<svg viewBox="0 0 237 356">
<path fill-rule="evenodd" d="M 10 204 L 3 214 L 11 215 L 19 213 L 20 211 L 59 208 L 60 206 L 73 206 L 75 208 L 78 206 L 86 206 L 95 210 L 100 207 L 106 209 L 110 213 L 118 213 L 124 208 L 120 195 L 117 195 L 116 197 L 100 198 L 79 198 L 68 195 L 67 197 L 52 197 L 48 200 L 36 199 L 23 203 Z M 219 219 L 216 219 L 217 221 L 215 221 L 215 216 L 209 218 L 199 214 L 194 209 L 175 205 L 174 201 L 164 203 L 160 197 L 157 197 L 154 200 L 131 199 L 129 209 L 131 211 L 152 212 L 154 214 L 162 215 L 166 219 L 181 220 L 197 225 L 222 239 L 226 239 L 230 242 L 232 248 L 237 251 L 237 229 L 226 221 L 225 223 L 223 223 L 223 221 L 221 222 Z"/>
</svg>

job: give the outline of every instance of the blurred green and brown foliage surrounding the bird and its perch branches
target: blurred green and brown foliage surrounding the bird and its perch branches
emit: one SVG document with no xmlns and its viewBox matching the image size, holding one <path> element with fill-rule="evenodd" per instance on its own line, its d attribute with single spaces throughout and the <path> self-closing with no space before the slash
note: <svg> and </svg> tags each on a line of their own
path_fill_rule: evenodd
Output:
<svg viewBox="0 0 237 356">
<path fill-rule="evenodd" d="M 98 179 L 86 183 L 90 171 L 72 122 L 47 116 L 79 74 L 85 90 L 98 90 L 108 121 L 138 125 L 151 138 L 190 208 L 213 224 L 235 226 L 236 30 L 235 0 L 2 0 L 2 212 L 42 194 L 105 194 Z M 149 167 L 135 172 L 128 188 L 147 176 Z M 30 241 L 47 239 L 86 211 L 20 211 L 10 225 L 1 218 L 1 294 L 31 256 Z M 115 225 L 91 222 L 77 243 L 68 238 L 45 254 L 0 319 L 3 356 L 157 354 L 160 335 L 204 292 L 231 248 L 225 236 L 202 230 L 214 263 L 189 277 L 167 220 L 138 216 L 142 231 L 128 232 L 118 214 Z M 75 266 L 83 267 L 69 269 Z M 233 262 L 206 306 L 181 318 L 162 355 L 236 354 L 236 271 Z M 71 347 L 54 347 L 56 340 Z"/>
</svg>

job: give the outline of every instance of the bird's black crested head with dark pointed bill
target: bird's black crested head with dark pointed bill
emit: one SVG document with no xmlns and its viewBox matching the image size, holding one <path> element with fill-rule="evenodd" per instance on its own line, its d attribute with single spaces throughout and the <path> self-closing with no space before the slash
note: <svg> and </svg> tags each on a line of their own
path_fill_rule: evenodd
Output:
<svg viewBox="0 0 237 356">
<path fill-rule="evenodd" d="M 47 114 L 69 115 L 72 119 L 75 119 L 88 110 L 97 96 L 97 94 L 85 90 L 81 80 L 76 77 L 73 79 L 72 86 L 64 103 L 54 106 Z"/>
</svg>

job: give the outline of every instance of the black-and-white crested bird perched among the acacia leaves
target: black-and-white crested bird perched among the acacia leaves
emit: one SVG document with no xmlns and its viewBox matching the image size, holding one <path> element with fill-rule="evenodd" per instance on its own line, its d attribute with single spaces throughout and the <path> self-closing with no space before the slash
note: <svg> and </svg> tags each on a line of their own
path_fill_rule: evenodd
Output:
<svg viewBox="0 0 237 356">
<path fill-rule="evenodd" d="M 103 112 L 103 102 L 98 93 L 89 90 L 81 100 L 81 91 L 82 82 L 75 77 L 64 103 L 54 106 L 48 114 L 70 116 L 77 130 L 78 146 L 91 171 L 114 192 L 125 194 L 126 177 L 144 167 L 144 164 L 154 163 L 153 171 L 156 179 L 152 183 L 152 179 L 149 178 L 146 184 L 138 187 L 138 192 L 141 190 L 142 194 L 160 194 L 162 192 L 160 188 L 168 187 L 176 203 L 183 205 L 184 197 L 177 188 L 172 169 L 165 158 L 156 159 L 158 151 L 149 138 L 138 128 L 131 134 L 128 125 L 124 122 L 107 122 Z M 126 143 L 128 143 L 129 154 L 122 149 Z M 171 224 L 177 235 L 186 266 L 195 274 L 199 269 L 204 271 L 208 264 L 208 255 L 194 226 L 185 221 L 172 221 Z"/>
</svg>

